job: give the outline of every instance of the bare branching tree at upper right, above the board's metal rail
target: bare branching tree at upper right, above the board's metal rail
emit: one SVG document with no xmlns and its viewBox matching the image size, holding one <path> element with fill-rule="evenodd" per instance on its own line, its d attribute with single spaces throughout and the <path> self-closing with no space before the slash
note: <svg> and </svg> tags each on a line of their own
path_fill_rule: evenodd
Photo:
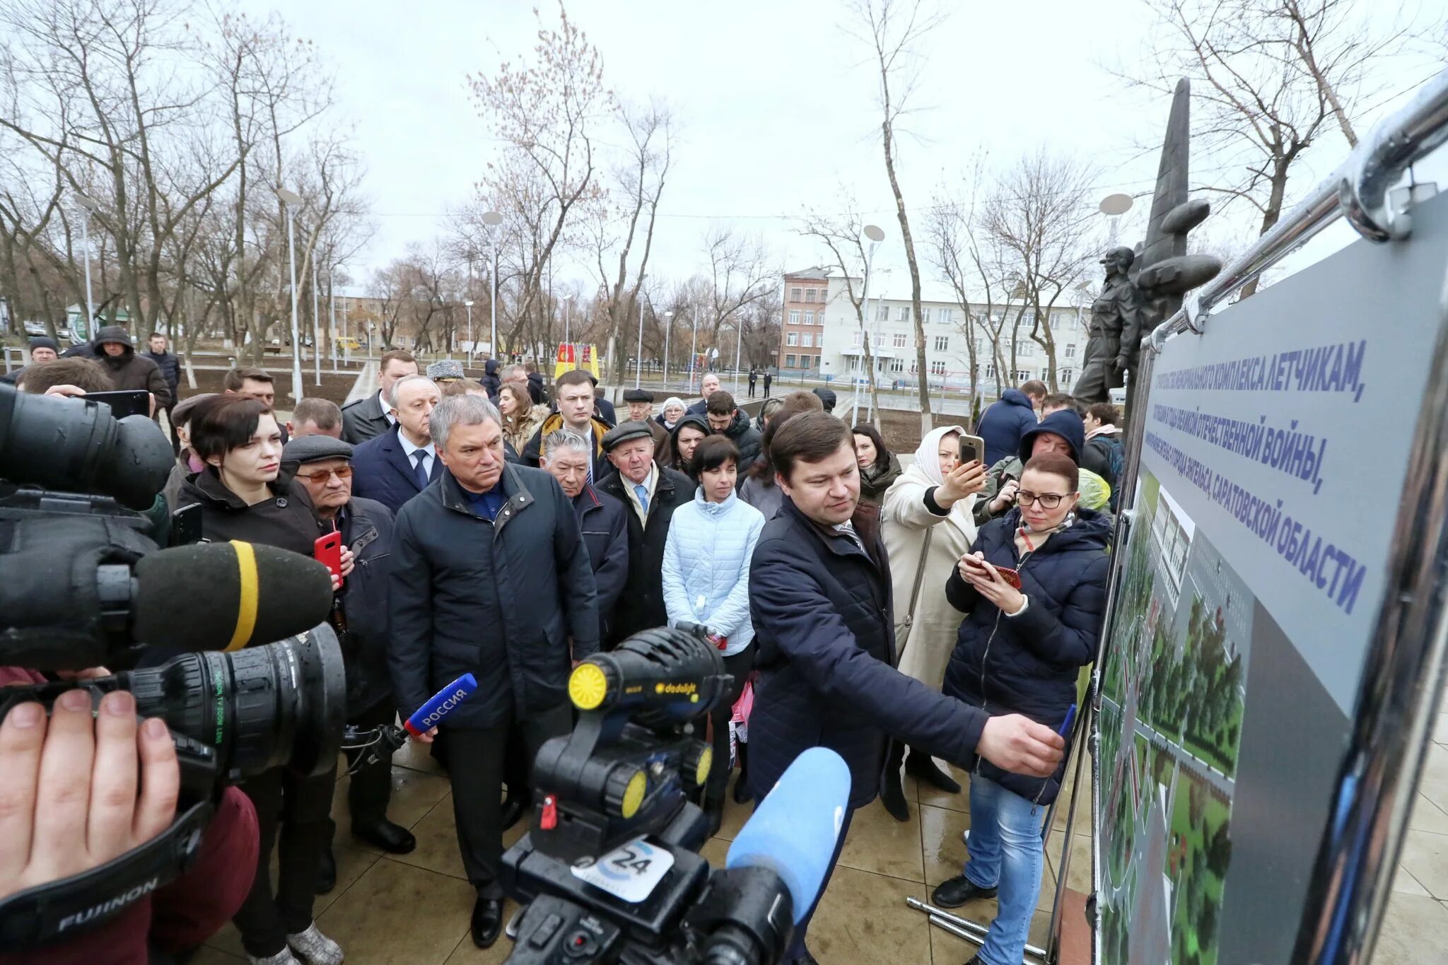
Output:
<svg viewBox="0 0 1448 965">
<path fill-rule="evenodd" d="M 1384 59 L 1415 36 L 1394 12 L 1348 0 L 1145 3 L 1166 30 L 1151 33 L 1132 80 L 1161 93 L 1193 81 L 1193 137 L 1225 168 L 1202 190 L 1250 204 L 1260 233 L 1281 217 L 1289 175 L 1323 133 L 1337 126 L 1357 143 L 1357 119 L 1384 93 L 1374 80 Z"/>
</svg>

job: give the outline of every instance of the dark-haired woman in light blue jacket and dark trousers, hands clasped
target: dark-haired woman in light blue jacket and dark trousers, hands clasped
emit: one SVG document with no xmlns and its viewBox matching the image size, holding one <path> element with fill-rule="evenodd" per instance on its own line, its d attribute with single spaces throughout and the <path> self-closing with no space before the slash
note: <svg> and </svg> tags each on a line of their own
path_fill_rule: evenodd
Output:
<svg viewBox="0 0 1448 965">
<path fill-rule="evenodd" d="M 734 495 L 738 449 L 725 435 L 701 441 L 689 463 L 699 480 L 694 502 L 673 511 L 663 547 L 663 605 L 669 625 L 702 624 L 724 654 L 734 679 L 710 713 L 714 767 L 704 786 L 710 835 L 724 820 L 728 786 L 728 719 L 754 666 L 754 628 L 749 621 L 749 561 L 765 528 L 765 515 Z M 740 757 L 743 761 L 743 757 Z M 740 777 L 743 783 L 743 777 Z"/>
</svg>

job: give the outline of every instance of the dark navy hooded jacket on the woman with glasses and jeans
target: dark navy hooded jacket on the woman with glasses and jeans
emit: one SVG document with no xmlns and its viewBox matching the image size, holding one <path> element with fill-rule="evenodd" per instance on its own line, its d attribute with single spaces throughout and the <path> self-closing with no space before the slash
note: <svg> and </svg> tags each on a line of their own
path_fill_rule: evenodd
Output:
<svg viewBox="0 0 1448 965">
<path fill-rule="evenodd" d="M 1079 509 L 1074 522 L 1025 558 L 1016 553 L 1021 511 L 1011 509 L 980 530 L 972 553 L 1021 573 L 1030 605 L 1019 616 L 1003 616 L 951 567 L 946 599 L 966 613 L 956 650 L 946 667 L 944 693 L 993 715 L 1024 713 L 1053 731 L 1076 703 L 1076 679 L 1096 658 L 1106 611 L 1106 516 Z M 980 774 L 1008 790 L 1050 804 L 1061 788 L 1066 761 L 1053 777 L 1008 774 L 979 761 Z"/>
</svg>

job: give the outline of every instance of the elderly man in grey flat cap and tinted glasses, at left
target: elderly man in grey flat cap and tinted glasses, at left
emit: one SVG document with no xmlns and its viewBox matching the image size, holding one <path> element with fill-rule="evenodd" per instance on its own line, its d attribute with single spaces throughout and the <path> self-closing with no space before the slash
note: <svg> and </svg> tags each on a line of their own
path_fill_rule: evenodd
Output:
<svg viewBox="0 0 1448 965">
<path fill-rule="evenodd" d="M 323 434 L 294 438 L 281 451 L 281 466 L 311 498 L 317 535 L 340 532 L 342 545 L 352 557 L 352 569 L 332 608 L 348 671 L 348 723 L 362 729 L 392 723 L 397 702 L 387 666 L 392 511 L 352 495 L 352 446 L 340 438 Z M 348 787 L 352 836 L 403 855 L 417 846 L 417 839 L 387 819 L 391 796 L 391 755 L 352 775 Z M 334 825 L 332 830 L 336 832 Z M 329 835 L 317 893 L 330 891 L 336 878 Z"/>
</svg>

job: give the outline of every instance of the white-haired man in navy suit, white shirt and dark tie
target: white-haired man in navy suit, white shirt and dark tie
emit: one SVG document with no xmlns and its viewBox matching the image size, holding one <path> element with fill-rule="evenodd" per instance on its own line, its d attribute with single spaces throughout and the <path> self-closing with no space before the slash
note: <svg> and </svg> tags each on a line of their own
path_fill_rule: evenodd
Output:
<svg viewBox="0 0 1448 965">
<path fill-rule="evenodd" d="M 395 425 L 356 447 L 352 454 L 352 495 L 376 499 L 394 514 L 427 489 L 443 467 L 433 447 L 429 418 L 442 399 L 432 379 L 405 375 L 392 382 L 388 398 Z"/>
</svg>

